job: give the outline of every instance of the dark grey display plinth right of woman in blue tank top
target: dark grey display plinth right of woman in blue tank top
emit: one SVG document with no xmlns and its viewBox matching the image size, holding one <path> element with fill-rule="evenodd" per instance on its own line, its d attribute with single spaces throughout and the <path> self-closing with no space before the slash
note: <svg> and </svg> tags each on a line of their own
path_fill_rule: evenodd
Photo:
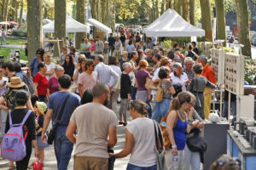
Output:
<svg viewBox="0 0 256 170">
<path fill-rule="evenodd" d="M 206 123 L 203 128 L 203 137 L 207 140 L 207 151 L 205 153 L 204 169 L 210 169 L 212 162 L 227 151 L 227 130 L 230 124 Z"/>
</svg>

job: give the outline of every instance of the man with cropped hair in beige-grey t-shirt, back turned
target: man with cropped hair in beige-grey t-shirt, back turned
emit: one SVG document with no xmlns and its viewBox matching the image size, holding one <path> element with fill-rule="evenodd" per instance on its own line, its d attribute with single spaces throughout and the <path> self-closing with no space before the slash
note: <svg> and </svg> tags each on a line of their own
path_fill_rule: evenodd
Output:
<svg viewBox="0 0 256 170">
<path fill-rule="evenodd" d="M 108 170 L 108 147 L 117 142 L 118 119 L 105 106 L 109 98 L 107 85 L 97 83 L 92 95 L 91 103 L 81 105 L 73 112 L 67 127 L 67 138 L 76 144 L 73 169 Z M 77 136 L 74 135 L 76 129 Z"/>
</svg>

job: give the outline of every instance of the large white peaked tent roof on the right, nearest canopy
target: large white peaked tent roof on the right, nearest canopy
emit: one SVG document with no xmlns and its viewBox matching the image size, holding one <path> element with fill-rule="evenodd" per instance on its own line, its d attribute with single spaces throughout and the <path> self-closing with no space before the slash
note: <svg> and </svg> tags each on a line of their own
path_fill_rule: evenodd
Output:
<svg viewBox="0 0 256 170">
<path fill-rule="evenodd" d="M 175 10 L 168 9 L 157 20 L 154 20 L 146 29 L 147 37 L 197 37 L 205 36 L 205 31 L 190 25 L 177 14 Z"/>
</svg>

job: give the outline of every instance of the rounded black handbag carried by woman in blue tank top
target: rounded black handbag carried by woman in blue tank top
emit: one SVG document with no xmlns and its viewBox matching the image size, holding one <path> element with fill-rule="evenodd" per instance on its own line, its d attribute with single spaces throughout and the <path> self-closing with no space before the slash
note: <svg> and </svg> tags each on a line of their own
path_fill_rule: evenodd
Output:
<svg viewBox="0 0 256 170">
<path fill-rule="evenodd" d="M 200 129 L 198 127 L 195 127 L 191 130 L 190 133 L 193 133 L 193 135 L 187 138 L 187 145 L 189 147 L 189 150 L 193 152 L 205 152 L 207 150 L 207 142 L 200 135 Z"/>
</svg>

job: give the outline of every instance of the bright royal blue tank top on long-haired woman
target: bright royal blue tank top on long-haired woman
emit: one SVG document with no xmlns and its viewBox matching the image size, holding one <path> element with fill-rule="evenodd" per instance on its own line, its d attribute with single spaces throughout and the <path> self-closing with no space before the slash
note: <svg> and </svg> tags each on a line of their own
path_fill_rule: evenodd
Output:
<svg viewBox="0 0 256 170">
<path fill-rule="evenodd" d="M 177 124 L 173 128 L 173 135 L 175 139 L 175 143 L 177 145 L 177 150 L 184 150 L 186 144 L 186 129 L 187 129 L 187 121 L 182 122 L 177 116 Z"/>
</svg>

